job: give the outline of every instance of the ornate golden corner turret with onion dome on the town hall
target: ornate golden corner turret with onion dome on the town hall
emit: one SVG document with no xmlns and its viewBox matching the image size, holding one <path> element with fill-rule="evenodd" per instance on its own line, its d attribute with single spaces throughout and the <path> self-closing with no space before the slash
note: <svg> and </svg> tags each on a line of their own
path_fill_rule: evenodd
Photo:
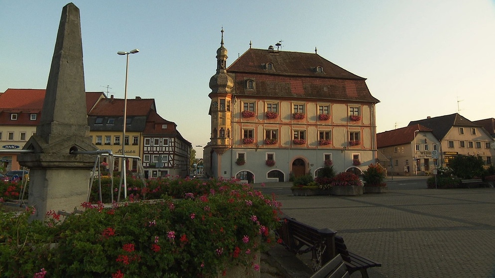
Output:
<svg viewBox="0 0 495 278">
<path fill-rule="evenodd" d="M 232 147 L 232 88 L 234 80 L 227 73 L 227 49 L 222 41 L 217 50 L 217 72 L 210 79 L 211 146 L 218 155 Z"/>
</svg>

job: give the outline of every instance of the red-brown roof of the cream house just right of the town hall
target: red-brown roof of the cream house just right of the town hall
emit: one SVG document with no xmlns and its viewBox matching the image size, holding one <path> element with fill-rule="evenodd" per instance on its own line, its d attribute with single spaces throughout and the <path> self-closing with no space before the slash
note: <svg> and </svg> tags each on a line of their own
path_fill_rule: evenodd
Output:
<svg viewBox="0 0 495 278">
<path fill-rule="evenodd" d="M 405 128 L 386 131 L 376 134 L 376 147 L 387 147 L 410 143 L 414 140 L 415 131 L 431 132 L 432 130 L 421 125 L 412 125 Z"/>
</svg>

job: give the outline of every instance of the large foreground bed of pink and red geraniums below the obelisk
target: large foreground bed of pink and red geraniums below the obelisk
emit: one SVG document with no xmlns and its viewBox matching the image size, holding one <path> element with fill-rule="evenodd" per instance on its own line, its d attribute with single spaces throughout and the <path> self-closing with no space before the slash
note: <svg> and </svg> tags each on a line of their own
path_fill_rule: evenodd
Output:
<svg viewBox="0 0 495 278">
<path fill-rule="evenodd" d="M 188 197 L 176 200 L 84 203 L 82 214 L 61 220 L 49 212 L 45 223 L 29 222 L 31 209 L 1 212 L 1 275 L 214 277 L 238 264 L 259 270 L 253 257 L 274 242 L 280 204 L 235 180 L 205 185 L 202 194 L 182 191 Z"/>
</svg>

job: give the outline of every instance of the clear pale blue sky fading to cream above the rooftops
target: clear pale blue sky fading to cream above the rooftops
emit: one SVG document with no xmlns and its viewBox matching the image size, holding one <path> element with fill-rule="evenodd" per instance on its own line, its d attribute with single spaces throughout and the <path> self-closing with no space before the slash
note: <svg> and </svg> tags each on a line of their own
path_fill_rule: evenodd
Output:
<svg viewBox="0 0 495 278">
<path fill-rule="evenodd" d="M 46 89 L 61 0 L 1 0 L 0 92 Z M 495 118 L 495 0 L 74 0 L 85 86 L 155 99 L 158 114 L 202 157 L 208 83 L 221 32 L 227 65 L 249 48 L 318 54 L 367 78 L 377 132 L 459 113 Z"/>
</svg>

